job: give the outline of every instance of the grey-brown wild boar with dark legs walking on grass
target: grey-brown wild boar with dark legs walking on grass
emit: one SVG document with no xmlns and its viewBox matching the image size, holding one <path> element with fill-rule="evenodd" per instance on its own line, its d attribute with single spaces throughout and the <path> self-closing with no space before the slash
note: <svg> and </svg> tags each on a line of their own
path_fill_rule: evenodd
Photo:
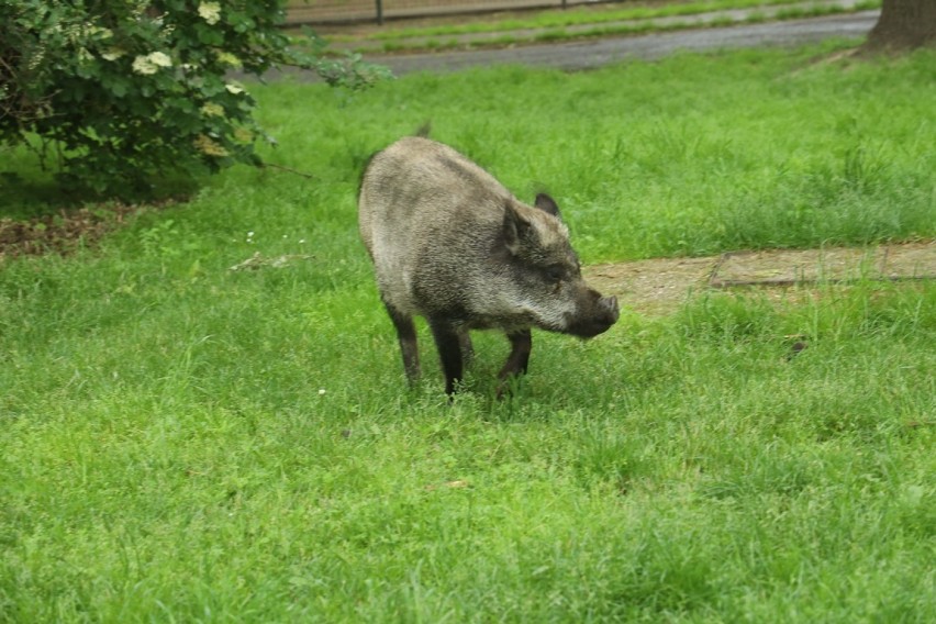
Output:
<svg viewBox="0 0 936 624">
<path fill-rule="evenodd" d="M 420 375 L 414 315 L 428 322 L 449 397 L 473 355 L 470 330 L 497 328 L 510 339 L 501 394 L 527 370 L 532 327 L 588 338 L 617 321 L 617 299 L 582 279 L 553 198 L 522 203 L 435 141 L 401 138 L 371 158 L 358 219 L 411 383 Z"/>
</svg>

